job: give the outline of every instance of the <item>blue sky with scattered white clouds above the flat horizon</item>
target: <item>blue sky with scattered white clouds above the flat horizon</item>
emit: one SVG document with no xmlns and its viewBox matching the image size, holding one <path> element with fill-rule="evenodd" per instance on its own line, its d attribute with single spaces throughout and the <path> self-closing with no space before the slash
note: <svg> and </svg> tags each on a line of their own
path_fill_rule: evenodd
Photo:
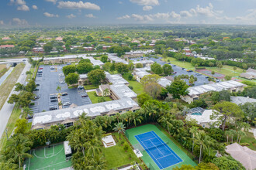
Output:
<svg viewBox="0 0 256 170">
<path fill-rule="evenodd" d="M 256 0 L 0 0 L 0 26 L 256 25 Z"/>
</svg>

